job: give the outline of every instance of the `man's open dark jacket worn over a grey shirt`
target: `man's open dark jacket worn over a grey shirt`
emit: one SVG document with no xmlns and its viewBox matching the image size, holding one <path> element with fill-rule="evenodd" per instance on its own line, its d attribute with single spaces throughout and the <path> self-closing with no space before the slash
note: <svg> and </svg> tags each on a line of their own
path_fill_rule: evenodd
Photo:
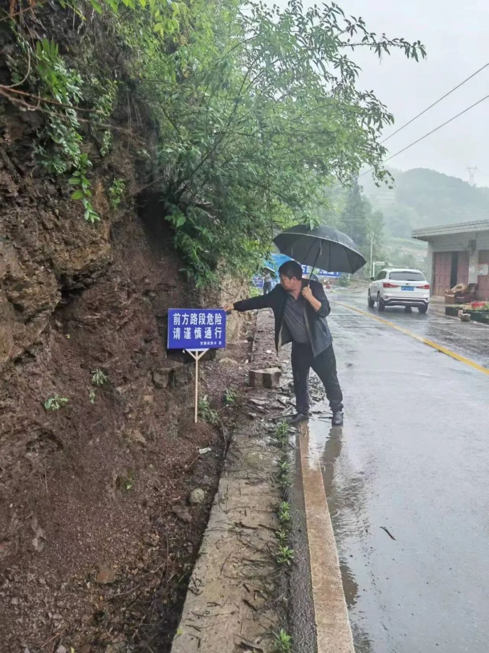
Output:
<svg viewBox="0 0 489 653">
<path fill-rule="evenodd" d="M 302 279 L 302 287 L 306 283 L 307 281 Z M 331 309 L 328 299 L 324 295 L 323 285 L 318 283 L 318 281 L 309 281 L 309 286 L 315 298 L 321 302 L 321 308 L 315 311 L 308 301 L 304 301 L 304 304 L 306 304 L 304 308 L 306 328 L 308 330 L 309 340 L 311 341 L 313 354 L 316 357 L 332 343 L 331 333 L 326 321 L 326 316 L 330 314 Z M 249 299 L 243 299 L 240 302 L 234 302 L 236 311 L 251 311 L 255 308 L 271 308 L 274 311 L 275 346 L 277 351 L 279 351 L 282 345 L 292 341 L 289 329 L 283 319 L 287 295 L 289 293 L 280 284 L 277 284 L 272 292 L 267 295 L 260 295 L 259 297 L 251 297 Z"/>
</svg>

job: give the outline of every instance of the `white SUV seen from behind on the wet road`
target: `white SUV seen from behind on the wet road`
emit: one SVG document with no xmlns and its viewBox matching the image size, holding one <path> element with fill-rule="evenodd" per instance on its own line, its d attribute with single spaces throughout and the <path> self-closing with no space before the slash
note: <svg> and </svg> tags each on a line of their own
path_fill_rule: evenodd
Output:
<svg viewBox="0 0 489 653">
<path fill-rule="evenodd" d="M 430 284 L 420 270 L 385 268 L 370 280 L 370 308 L 377 302 L 379 311 L 385 311 L 386 306 L 416 306 L 420 313 L 428 310 Z"/>
</svg>

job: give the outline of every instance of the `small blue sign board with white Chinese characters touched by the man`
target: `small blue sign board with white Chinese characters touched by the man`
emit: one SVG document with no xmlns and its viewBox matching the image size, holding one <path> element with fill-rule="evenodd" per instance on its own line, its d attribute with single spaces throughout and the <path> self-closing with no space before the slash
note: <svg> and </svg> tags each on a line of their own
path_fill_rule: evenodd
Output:
<svg viewBox="0 0 489 653">
<path fill-rule="evenodd" d="M 223 349 L 226 313 L 220 308 L 169 308 L 168 349 Z"/>
</svg>

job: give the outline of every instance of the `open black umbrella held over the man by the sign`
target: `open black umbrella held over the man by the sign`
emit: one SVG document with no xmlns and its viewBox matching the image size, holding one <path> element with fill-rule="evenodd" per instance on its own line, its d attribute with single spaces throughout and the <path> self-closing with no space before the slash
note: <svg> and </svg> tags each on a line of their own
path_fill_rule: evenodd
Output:
<svg viewBox="0 0 489 653">
<path fill-rule="evenodd" d="M 278 234 L 274 243 L 282 254 L 303 265 L 316 266 L 328 272 L 356 272 L 366 260 L 356 245 L 342 231 L 321 225 L 310 229 L 308 225 L 296 225 Z"/>
</svg>

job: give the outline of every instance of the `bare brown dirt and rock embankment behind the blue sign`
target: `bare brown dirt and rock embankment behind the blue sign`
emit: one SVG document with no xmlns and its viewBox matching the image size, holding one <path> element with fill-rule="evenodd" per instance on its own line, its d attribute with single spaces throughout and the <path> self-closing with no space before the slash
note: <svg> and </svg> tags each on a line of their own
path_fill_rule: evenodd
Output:
<svg viewBox="0 0 489 653">
<path fill-rule="evenodd" d="M 35 162 L 40 120 L 7 103 L 0 119 L 0 652 L 165 651 L 225 448 L 193 424 L 193 364 L 166 351 L 166 311 L 226 297 L 181 280 L 162 205 L 135 192 L 151 174 L 137 133 L 91 153 L 94 227 Z M 119 211 L 115 176 L 137 197 Z M 247 337 L 232 324 L 227 360 L 203 365 L 225 420 Z"/>
</svg>

